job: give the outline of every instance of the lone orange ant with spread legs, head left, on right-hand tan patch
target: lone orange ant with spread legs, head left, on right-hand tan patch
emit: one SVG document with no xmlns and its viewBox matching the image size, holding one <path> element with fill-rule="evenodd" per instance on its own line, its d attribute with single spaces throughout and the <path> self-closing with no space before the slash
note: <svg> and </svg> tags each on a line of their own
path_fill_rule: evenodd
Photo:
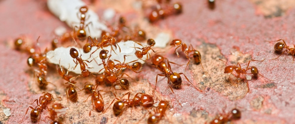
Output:
<svg viewBox="0 0 295 124">
<path fill-rule="evenodd" d="M 219 60 L 221 60 L 221 59 L 219 59 Z M 221 61 L 224 61 L 224 60 L 221 60 Z M 250 60 L 250 61 L 258 61 L 258 60 Z M 241 68 L 241 65 L 240 65 L 239 62 L 238 62 L 238 64 L 236 66 L 235 65 L 226 66 L 227 62 L 224 61 L 225 62 L 225 66 L 226 66 L 225 69 L 224 69 L 224 73 L 232 73 L 233 71 L 235 71 L 238 74 L 238 75 L 234 75 L 235 77 L 245 79 L 245 77 L 241 77 L 241 75 L 247 74 L 247 70 L 251 70 L 251 73 L 253 74 L 254 77 L 257 78 L 258 77 L 258 74 L 260 76 L 264 77 L 263 75 L 261 75 L 260 73 L 258 73 L 258 69 L 255 66 L 249 67 L 250 61 L 248 62 L 248 65 L 247 65 L 247 67 L 245 69 L 242 69 Z M 262 62 L 262 61 L 264 61 L 264 60 L 261 60 L 259 62 Z M 239 67 L 238 67 L 238 65 L 239 65 Z"/>
</svg>

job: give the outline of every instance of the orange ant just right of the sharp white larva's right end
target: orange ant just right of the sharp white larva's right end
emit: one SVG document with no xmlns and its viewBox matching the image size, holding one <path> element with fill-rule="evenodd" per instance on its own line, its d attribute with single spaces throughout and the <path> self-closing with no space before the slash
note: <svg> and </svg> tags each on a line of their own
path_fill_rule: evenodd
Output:
<svg viewBox="0 0 295 124">
<path fill-rule="evenodd" d="M 202 65 L 202 62 L 201 62 L 201 54 L 200 54 L 199 51 L 197 51 L 197 50 L 195 50 L 193 48 L 192 44 L 190 44 L 189 47 L 187 47 L 187 45 L 185 43 L 182 43 L 182 41 L 180 39 L 175 39 L 175 40 L 172 40 L 172 42 L 170 43 L 170 45 L 171 46 L 174 45 L 176 47 L 174 52 L 176 52 L 177 57 L 179 57 L 179 53 L 178 53 L 177 49 L 179 47 L 182 48 L 181 50 L 184 52 L 185 57 L 188 58 L 188 63 L 186 64 L 185 69 L 188 67 L 188 64 L 190 63 L 190 60 L 191 60 L 189 58 L 189 55 L 190 55 L 189 53 L 190 52 L 193 52 L 193 54 L 191 54 L 191 55 L 193 55 L 193 59 L 195 60 L 196 64 L 200 64 L 201 63 L 201 65 Z M 202 69 L 204 70 L 203 65 L 202 65 Z"/>
</svg>

